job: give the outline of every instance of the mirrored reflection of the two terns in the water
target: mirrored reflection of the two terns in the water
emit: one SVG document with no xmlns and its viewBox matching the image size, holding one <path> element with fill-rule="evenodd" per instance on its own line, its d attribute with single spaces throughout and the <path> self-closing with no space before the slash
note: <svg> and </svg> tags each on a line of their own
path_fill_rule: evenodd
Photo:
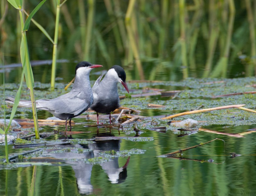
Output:
<svg viewBox="0 0 256 196">
<path fill-rule="evenodd" d="M 98 135 L 98 134 L 97 134 Z M 101 135 L 101 134 L 100 134 Z M 98 135 L 98 136 L 100 136 Z M 80 148 L 88 149 L 88 152 L 73 153 L 49 153 L 46 156 L 51 156 L 62 160 L 77 160 L 77 161 L 65 161 L 67 164 L 71 164 L 75 172 L 77 179 L 77 188 L 81 194 L 90 194 L 93 192 L 93 186 L 91 184 L 92 175 L 92 164 L 86 163 L 84 160 L 89 158 L 98 157 L 102 151 L 120 151 L 120 140 L 107 140 L 107 141 L 96 141 L 92 144 L 73 144 L 73 145 L 59 145 L 59 148 Z M 91 150 L 91 151 L 90 151 Z M 104 172 L 108 175 L 109 181 L 112 184 L 122 183 L 127 178 L 127 166 L 130 157 L 128 157 L 124 166 L 119 167 L 118 157 L 112 158 L 111 161 L 100 163 Z"/>
</svg>

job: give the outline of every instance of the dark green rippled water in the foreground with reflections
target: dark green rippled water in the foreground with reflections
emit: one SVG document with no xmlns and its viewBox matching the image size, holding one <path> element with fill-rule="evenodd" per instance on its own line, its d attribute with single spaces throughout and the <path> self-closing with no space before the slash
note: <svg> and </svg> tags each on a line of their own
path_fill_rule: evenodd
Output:
<svg viewBox="0 0 256 196">
<path fill-rule="evenodd" d="M 251 126 L 253 127 L 253 126 Z M 75 131 L 84 130 L 75 126 Z M 231 127 L 233 131 L 244 131 L 248 126 Z M 43 129 L 44 130 L 44 129 Z M 42 131 L 43 131 L 42 130 Z M 74 138 L 91 138 L 96 135 L 95 129 L 86 129 L 91 133 L 73 136 Z M 67 166 L 27 166 L 16 169 L 0 170 L 1 195 L 255 195 L 255 134 L 245 138 L 234 138 L 217 134 L 199 132 L 179 138 L 172 131 L 156 133 L 143 130 L 142 137 L 154 137 L 153 141 L 132 142 L 112 140 L 99 142 L 101 150 L 127 150 L 131 148 L 146 150 L 145 154 L 131 155 L 127 172 L 118 178 L 118 168 L 122 167 L 128 157 L 114 158 L 100 165 L 90 165 L 82 161 L 68 162 Z M 233 132 L 232 131 L 232 132 Z M 100 130 L 105 133 L 105 130 Z M 111 135 L 118 136 L 117 131 Z M 121 133 L 123 135 L 123 133 Z M 180 148 L 194 146 L 214 138 L 204 147 L 189 150 L 183 157 L 192 160 L 157 157 Z M 94 144 L 96 145 L 96 144 Z M 100 147 L 99 147 L 100 146 Z M 88 146 L 83 146 L 88 148 Z M 27 149 L 26 149 L 27 150 Z M 224 152 L 225 150 L 225 152 Z M 10 148 L 10 152 L 12 152 Z M 229 152 L 242 156 L 230 158 Z M 1 154 L 3 153 L 3 147 Z M 70 153 L 70 158 L 72 154 Z M 97 156 L 97 152 L 78 154 L 84 158 Z M 59 154 L 66 158 L 66 154 Z M 200 163 L 193 159 L 213 159 L 213 163 Z M 214 164 L 216 163 L 216 164 Z M 218 163 L 218 164 L 217 164 Z M 110 175 L 112 183 L 110 181 Z M 108 176 L 109 175 L 109 176 Z M 7 178 L 7 180 L 6 180 Z M 116 183 L 115 180 L 121 181 Z M 115 183 L 113 183 L 115 182 Z M 8 190 L 5 190 L 5 187 Z M 34 194 L 31 192 L 34 186 Z"/>
</svg>

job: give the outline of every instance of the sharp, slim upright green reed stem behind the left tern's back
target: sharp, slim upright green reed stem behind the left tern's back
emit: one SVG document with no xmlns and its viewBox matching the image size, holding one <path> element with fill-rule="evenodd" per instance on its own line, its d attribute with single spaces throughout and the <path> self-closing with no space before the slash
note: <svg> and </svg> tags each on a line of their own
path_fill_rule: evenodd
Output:
<svg viewBox="0 0 256 196">
<path fill-rule="evenodd" d="M 54 90 L 55 88 L 57 46 L 58 46 L 59 22 L 60 22 L 60 0 L 56 0 L 56 3 L 57 3 L 57 8 L 56 8 L 54 43 L 53 43 L 53 53 L 52 53 L 51 90 Z"/>
</svg>

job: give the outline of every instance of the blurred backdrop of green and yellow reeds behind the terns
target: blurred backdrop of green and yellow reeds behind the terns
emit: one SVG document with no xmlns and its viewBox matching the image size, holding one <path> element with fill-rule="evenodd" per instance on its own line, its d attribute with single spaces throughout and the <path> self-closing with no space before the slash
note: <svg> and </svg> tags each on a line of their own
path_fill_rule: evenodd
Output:
<svg viewBox="0 0 256 196">
<path fill-rule="evenodd" d="M 0 3 L 0 56 L 5 64 L 20 62 L 19 13 Z M 30 13 L 39 3 L 24 0 L 23 8 Z M 52 38 L 57 3 L 46 1 L 33 17 Z M 128 80 L 254 76 L 255 12 L 256 0 L 67 0 L 60 7 L 57 59 L 105 69 L 118 64 Z M 52 59 L 53 43 L 32 22 L 27 41 L 30 60 Z M 57 75 L 70 72 L 73 67 L 57 63 Z"/>
</svg>

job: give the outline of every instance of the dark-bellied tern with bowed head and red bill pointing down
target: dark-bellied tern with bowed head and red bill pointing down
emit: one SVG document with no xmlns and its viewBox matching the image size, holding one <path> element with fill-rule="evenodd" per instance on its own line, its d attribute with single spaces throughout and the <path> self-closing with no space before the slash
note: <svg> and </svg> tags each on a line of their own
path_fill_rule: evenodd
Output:
<svg viewBox="0 0 256 196">
<path fill-rule="evenodd" d="M 117 92 L 117 83 L 120 82 L 127 92 L 129 89 L 126 84 L 125 70 L 119 65 L 112 66 L 105 77 L 101 80 L 104 74 L 102 74 L 94 83 L 92 88 L 94 102 L 91 109 L 97 112 L 97 123 L 99 124 L 99 114 L 109 114 L 109 120 L 111 124 L 111 112 L 118 108 L 119 95 Z"/>
</svg>

